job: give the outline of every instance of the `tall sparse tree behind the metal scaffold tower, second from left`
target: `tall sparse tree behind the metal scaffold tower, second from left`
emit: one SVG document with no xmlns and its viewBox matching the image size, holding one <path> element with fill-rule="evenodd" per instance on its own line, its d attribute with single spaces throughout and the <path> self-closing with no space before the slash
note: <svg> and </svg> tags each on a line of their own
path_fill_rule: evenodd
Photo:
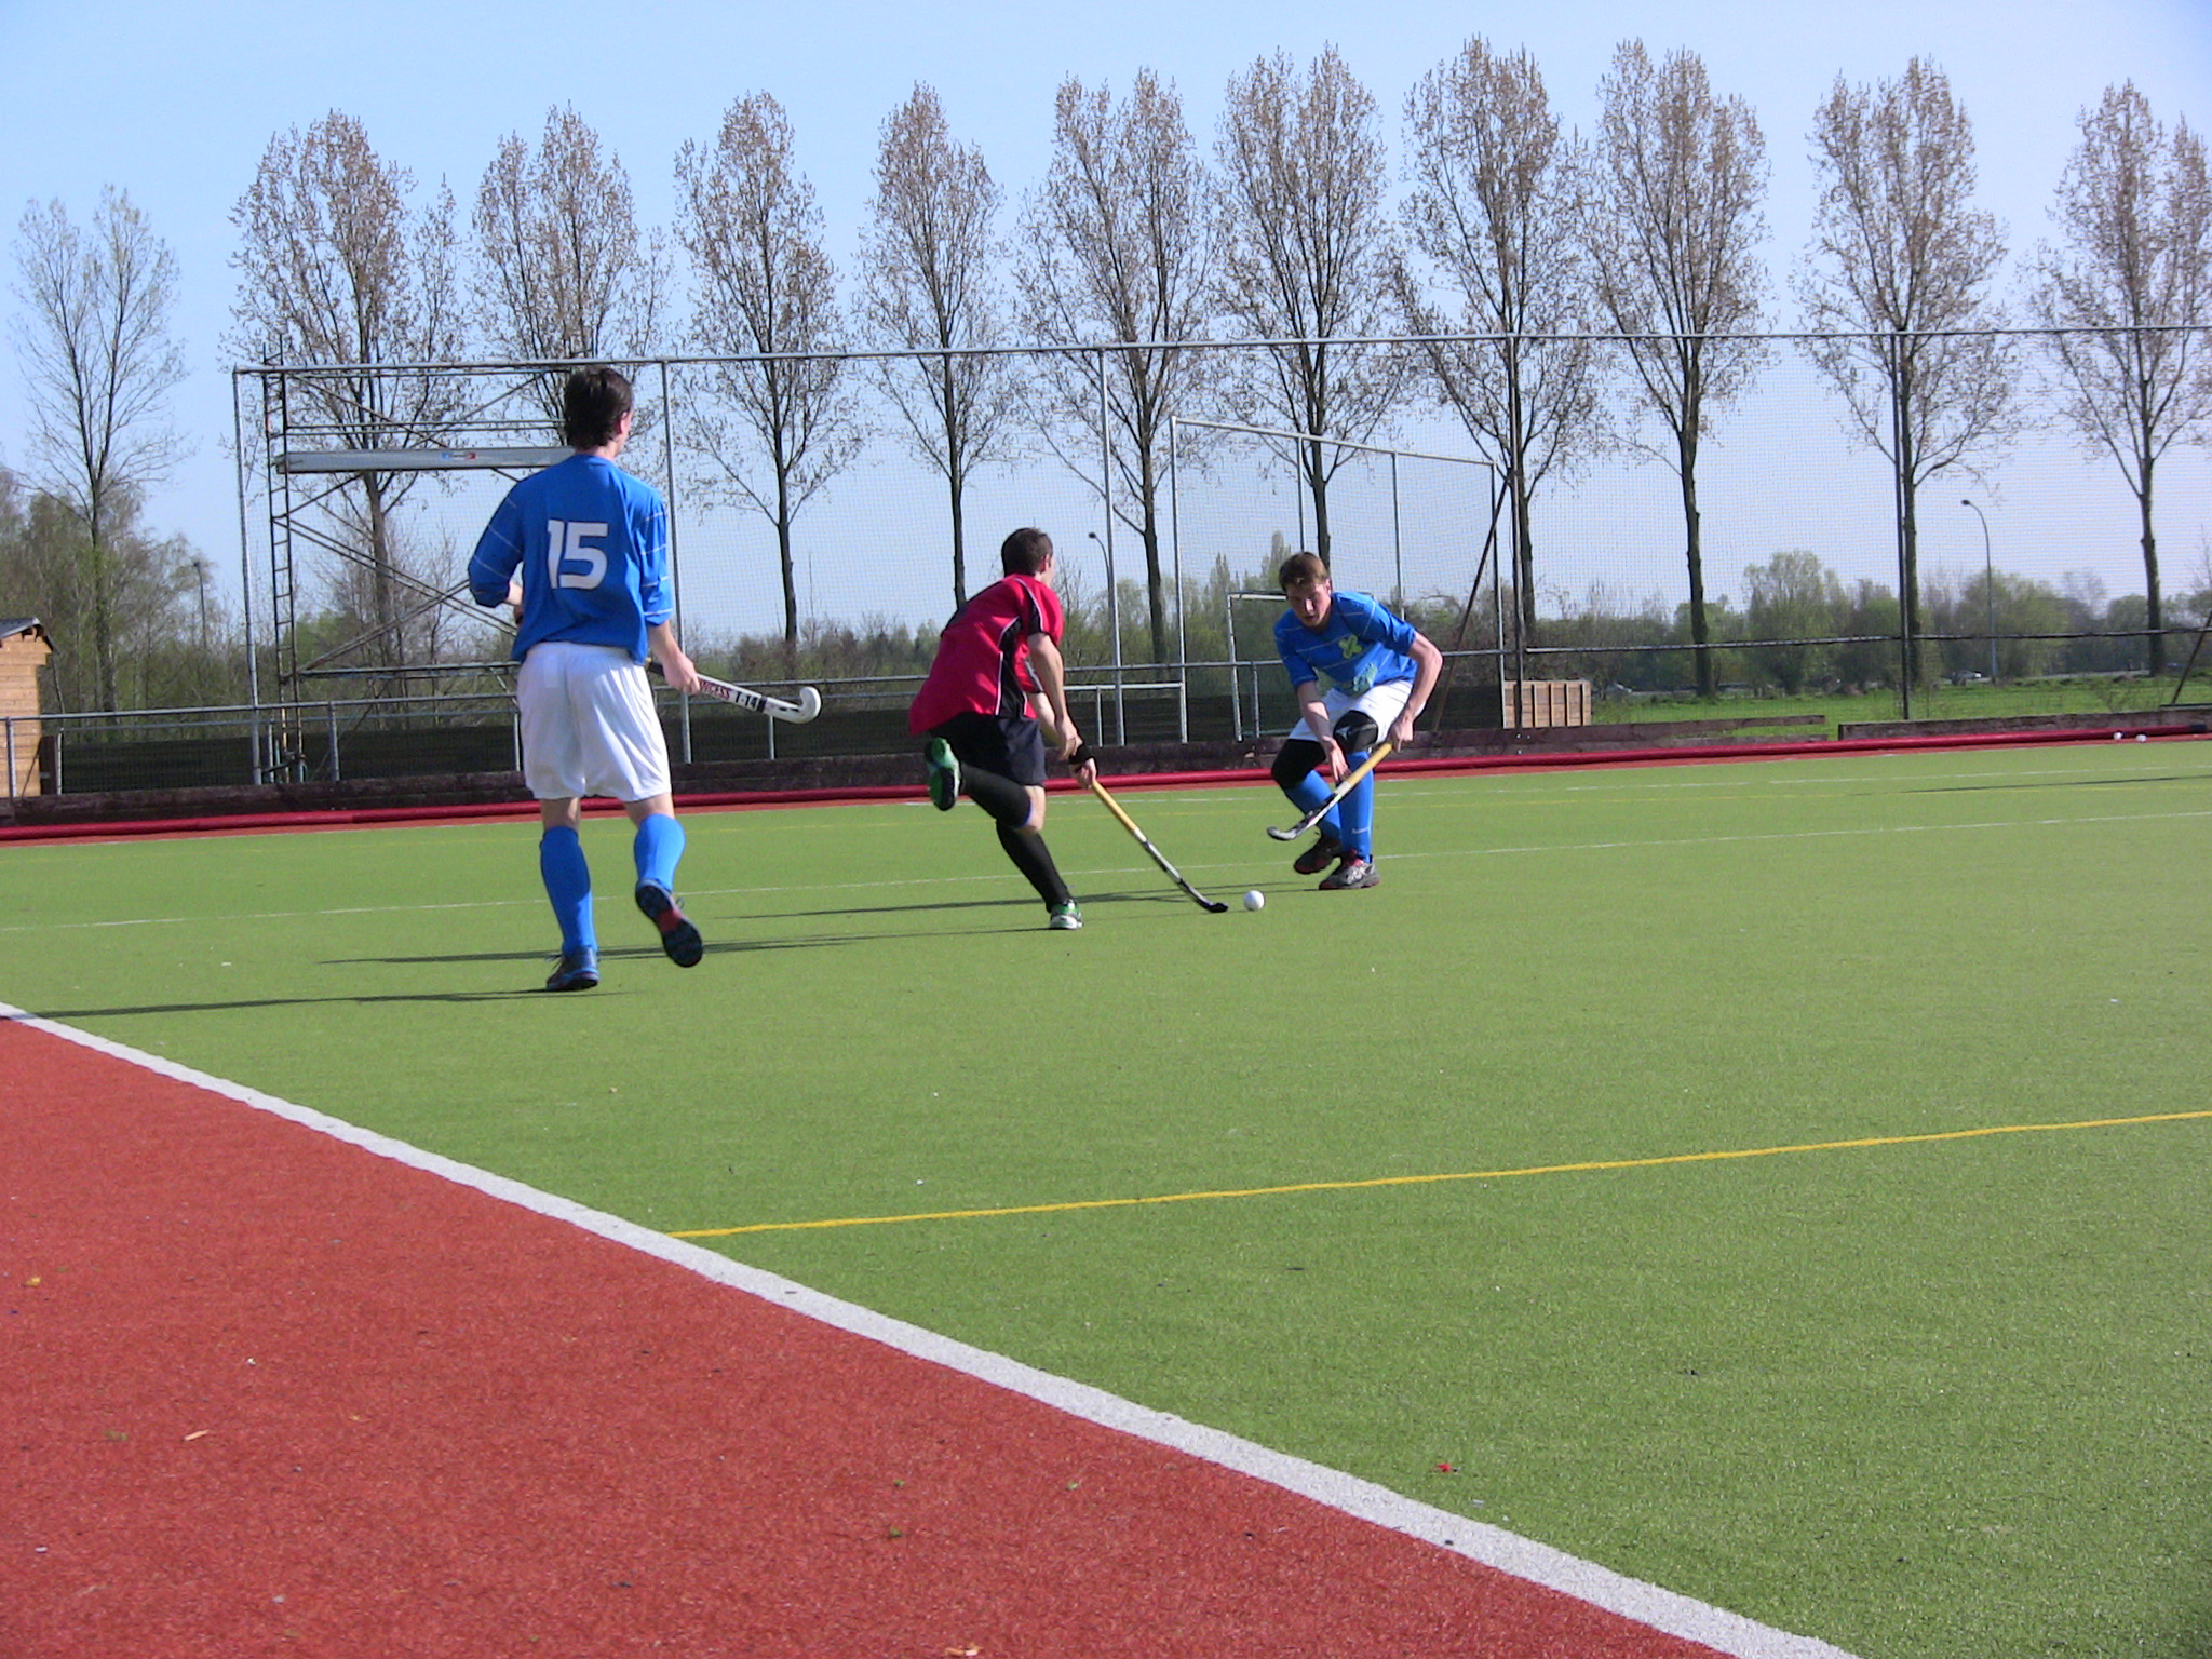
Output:
<svg viewBox="0 0 2212 1659">
<path fill-rule="evenodd" d="M 440 186 L 422 206 L 411 195 L 414 175 L 332 111 L 305 133 L 272 137 L 230 212 L 241 246 L 228 345 L 248 361 L 343 369 L 294 380 L 334 449 L 431 447 L 458 409 L 451 376 L 436 367 L 462 347 L 453 195 Z M 407 595 L 445 586 L 409 568 L 394 526 L 422 478 L 361 471 L 332 498 L 332 549 L 369 568 L 369 633 L 358 644 L 380 666 L 409 655 L 405 628 L 422 606 Z"/>
</svg>

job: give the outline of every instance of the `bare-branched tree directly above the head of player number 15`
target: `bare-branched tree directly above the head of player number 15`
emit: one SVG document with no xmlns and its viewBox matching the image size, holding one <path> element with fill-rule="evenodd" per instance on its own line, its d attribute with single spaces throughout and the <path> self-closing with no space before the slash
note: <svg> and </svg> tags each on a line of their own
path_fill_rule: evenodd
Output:
<svg viewBox="0 0 2212 1659">
<path fill-rule="evenodd" d="M 476 325 L 526 363 L 595 361 L 650 349 L 668 283 L 655 237 L 641 237 L 622 159 L 573 111 L 546 111 L 531 150 L 500 142 L 476 190 L 480 270 Z M 560 380 L 540 387 L 560 420 Z"/>
</svg>

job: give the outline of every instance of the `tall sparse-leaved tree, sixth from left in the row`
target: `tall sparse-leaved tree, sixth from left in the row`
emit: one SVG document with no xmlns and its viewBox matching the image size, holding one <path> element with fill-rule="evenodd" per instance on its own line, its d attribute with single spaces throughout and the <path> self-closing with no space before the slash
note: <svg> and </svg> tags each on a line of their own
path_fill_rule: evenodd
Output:
<svg viewBox="0 0 2212 1659">
<path fill-rule="evenodd" d="M 1062 449 L 1062 460 L 1084 478 L 1097 467 L 1099 498 L 1144 542 L 1152 661 L 1168 661 L 1159 557 L 1168 420 L 1206 365 L 1179 349 L 1206 332 L 1206 192 L 1183 104 L 1150 69 L 1137 71 L 1121 104 L 1073 75 L 1060 84 L 1053 166 L 1022 212 L 1022 323 L 1048 345 L 1117 345 L 1046 356 L 1042 378 L 1051 422 L 1088 438 L 1086 453 Z"/>
</svg>

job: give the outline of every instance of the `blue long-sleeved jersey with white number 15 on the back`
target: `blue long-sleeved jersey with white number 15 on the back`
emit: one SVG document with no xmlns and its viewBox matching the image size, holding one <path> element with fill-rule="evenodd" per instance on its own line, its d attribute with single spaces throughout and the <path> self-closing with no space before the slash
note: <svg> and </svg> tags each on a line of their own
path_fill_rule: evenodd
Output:
<svg viewBox="0 0 2212 1659">
<path fill-rule="evenodd" d="M 571 456 L 507 491 L 469 560 L 469 593 L 504 604 L 518 566 L 515 661 L 540 639 L 575 639 L 641 664 L 646 630 L 675 611 L 668 509 L 653 484 L 604 456 Z"/>
</svg>

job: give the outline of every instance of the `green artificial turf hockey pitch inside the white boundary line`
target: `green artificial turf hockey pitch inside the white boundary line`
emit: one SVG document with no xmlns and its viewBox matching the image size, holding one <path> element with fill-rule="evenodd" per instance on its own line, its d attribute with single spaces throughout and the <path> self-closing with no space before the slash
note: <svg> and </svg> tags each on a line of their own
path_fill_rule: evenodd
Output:
<svg viewBox="0 0 2212 1659">
<path fill-rule="evenodd" d="M 1387 779 L 1365 894 L 1119 794 L 1267 909 L 695 814 L 679 973 L 595 821 L 551 998 L 529 825 L 11 847 L 0 998 L 1869 1659 L 2212 1650 L 2212 1119 L 1951 1137 L 2212 1108 L 2212 748 Z"/>
</svg>

